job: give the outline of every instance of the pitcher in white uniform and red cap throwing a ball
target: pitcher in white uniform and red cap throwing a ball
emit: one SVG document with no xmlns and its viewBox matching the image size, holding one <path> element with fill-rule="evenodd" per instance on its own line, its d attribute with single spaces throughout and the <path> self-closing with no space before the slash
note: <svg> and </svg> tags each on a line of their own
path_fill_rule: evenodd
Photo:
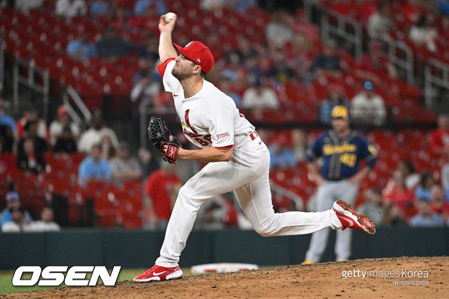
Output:
<svg viewBox="0 0 449 299">
<path fill-rule="evenodd" d="M 234 191 L 242 211 L 262 236 L 300 235 L 325 228 L 351 227 L 373 234 L 374 224 L 342 200 L 319 213 L 274 213 L 269 187 L 269 151 L 254 126 L 239 113 L 231 97 L 204 79 L 213 67 L 213 55 L 200 41 L 184 47 L 173 45 L 169 22 L 160 17 L 157 66 L 164 88 L 173 95 L 184 135 L 198 146 L 187 150 L 179 145 L 162 119 L 149 124 L 151 141 L 164 160 L 209 162 L 180 189 L 155 266 L 136 276 L 136 282 L 182 278 L 180 254 L 195 222 L 200 205 L 211 197 Z M 179 55 L 176 50 L 178 50 Z"/>
</svg>

